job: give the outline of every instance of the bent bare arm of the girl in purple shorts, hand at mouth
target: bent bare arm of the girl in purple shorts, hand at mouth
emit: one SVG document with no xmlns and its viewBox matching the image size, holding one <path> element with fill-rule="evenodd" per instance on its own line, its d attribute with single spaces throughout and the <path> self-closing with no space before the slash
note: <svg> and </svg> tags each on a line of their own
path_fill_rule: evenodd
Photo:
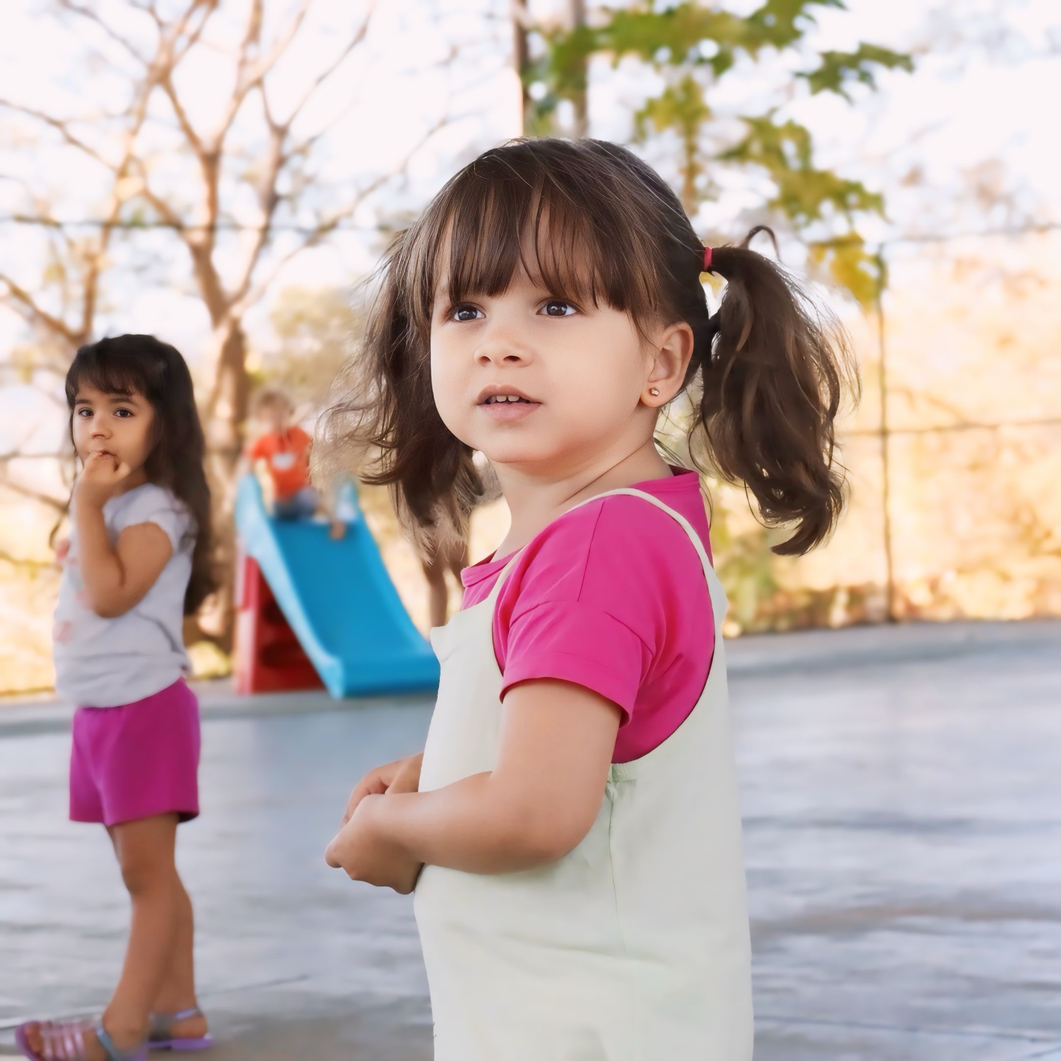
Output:
<svg viewBox="0 0 1061 1061">
<path fill-rule="evenodd" d="M 79 476 L 73 521 L 86 604 L 98 615 L 116 619 L 139 604 L 155 585 L 173 555 L 173 545 L 157 523 L 138 523 L 122 530 L 111 547 L 103 505 L 124 476 L 120 468 L 106 467 L 104 460 L 112 464 L 112 458 L 93 455 Z"/>
</svg>

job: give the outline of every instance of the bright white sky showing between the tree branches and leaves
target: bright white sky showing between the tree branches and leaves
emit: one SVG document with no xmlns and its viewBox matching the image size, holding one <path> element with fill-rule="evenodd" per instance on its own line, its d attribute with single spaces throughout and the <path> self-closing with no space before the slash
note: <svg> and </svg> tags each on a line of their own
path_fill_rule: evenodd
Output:
<svg viewBox="0 0 1061 1061">
<path fill-rule="evenodd" d="M 90 0 L 90 5 L 91 0 Z M 106 13 L 126 10 L 121 0 L 97 0 Z M 269 0 L 269 12 L 281 13 L 285 0 Z M 539 0 L 536 12 L 557 4 Z M 750 8 L 752 0 L 733 0 L 729 6 Z M 919 52 L 914 75 L 884 73 L 881 91 L 854 92 L 855 106 L 825 94 L 796 91 L 786 104 L 790 114 L 814 133 L 822 164 L 860 177 L 888 197 L 889 224 L 869 229 L 871 238 L 895 232 L 977 230 L 1012 222 L 1003 207 L 972 206 L 955 190 L 961 174 L 993 164 L 1002 186 L 1016 194 L 1017 206 L 1037 221 L 1061 220 L 1061 189 L 1055 171 L 1056 144 L 1048 117 L 1061 85 L 1061 12 L 1055 0 L 967 0 L 961 21 L 954 25 L 949 5 L 924 0 L 848 0 L 848 11 L 823 10 L 814 41 L 822 48 L 850 49 L 859 40 Z M 955 5 L 950 5 L 955 6 Z M 318 173 L 319 195 L 341 197 L 379 170 L 393 164 L 440 112 L 463 114 L 422 151 L 408 168 L 405 180 L 376 198 L 355 215 L 372 226 L 396 208 L 414 210 L 440 184 L 479 152 L 517 132 L 518 94 L 508 67 L 510 32 L 508 0 L 386 0 L 378 5 L 364 58 L 336 77 L 318 105 L 307 116 L 306 132 L 314 122 L 350 107 L 343 118 Z M 106 65 L 87 65 L 82 47 L 89 31 L 76 22 L 66 32 L 52 17 L 41 15 L 39 0 L 3 0 L 0 13 L 0 98 L 38 106 L 56 114 L 99 116 L 124 102 L 122 83 Z M 239 15 L 243 0 L 225 0 L 223 15 Z M 358 3 L 318 0 L 314 21 L 285 65 L 278 69 L 274 108 L 297 97 L 307 77 L 338 46 L 341 31 L 352 22 Z M 998 14 L 992 14 L 997 11 Z M 434 13 L 428 17 L 425 12 Z M 69 22 L 71 16 L 65 15 Z M 75 20 L 76 21 L 76 20 Z M 131 36 L 142 33 L 138 21 L 123 23 Z M 953 39 L 960 32 L 971 42 Z M 462 62 L 439 68 L 451 42 L 459 41 Z M 978 42 L 977 42 L 978 41 Z M 925 48 L 934 48 L 925 51 Z M 1053 55 L 1049 52 L 1053 51 Z M 785 62 L 788 62 L 787 59 Z M 740 114 L 744 107 L 776 99 L 773 87 L 783 77 L 781 60 L 752 68 L 747 76 L 729 76 L 715 93 L 719 111 Z M 629 72 L 628 72 L 629 71 Z M 228 84 L 207 57 L 198 69 L 185 71 L 193 120 L 206 121 L 225 99 Z M 591 91 L 593 134 L 626 139 L 629 115 L 644 75 L 624 66 L 616 76 L 607 66 L 594 79 Z M 351 102 L 352 101 L 352 104 Z M 289 104 L 290 105 L 290 104 Z M 159 104 L 159 112 L 164 107 Z M 10 121 L 7 112 L 0 123 Z M 0 125 L 0 127 L 2 127 Z M 86 131 L 86 136 L 98 129 Z M 11 150 L 14 144 L 16 150 Z M 158 175 L 179 186 L 179 168 L 166 160 L 164 134 L 158 135 Z M 651 157 L 650 160 L 656 160 Z M 665 167 L 665 158 L 660 162 Z M 904 182 L 912 171 L 921 181 Z M 58 201 L 57 212 L 68 219 L 92 216 L 100 208 L 95 181 L 99 172 L 72 151 L 27 151 L 12 136 L 0 136 L 0 214 L 25 208 L 25 188 Z M 20 184 L 21 181 L 21 184 Z M 761 202 L 761 189 L 744 176 L 730 180 L 717 204 L 697 219 L 705 229 L 732 231 L 743 210 Z M 253 218 L 250 205 L 240 211 Z M 33 288 L 39 281 L 39 232 L 0 224 L 0 271 L 15 274 Z M 281 241 L 282 245 L 282 241 Z M 205 318 L 197 301 L 174 290 L 186 283 L 182 249 L 172 236 L 160 233 L 150 242 L 138 237 L 141 258 L 177 261 L 170 283 L 160 283 L 157 267 L 135 260 L 122 246 L 116 258 L 129 266 L 120 288 L 109 290 L 102 325 L 120 330 L 150 330 L 166 335 L 194 355 L 205 337 Z M 236 248 L 233 248 L 234 250 Z M 284 272 L 281 284 L 344 285 L 368 269 L 378 243 L 359 232 L 335 239 L 327 248 L 301 256 Z M 123 256 L 123 257 L 122 257 Z M 138 278 L 150 279 L 138 279 Z M 264 327 L 264 309 L 251 320 Z M 10 350 L 23 336 L 20 321 L 0 309 L 0 345 Z M 47 415 L 46 415 L 47 414 Z M 0 452 L 23 439 L 40 424 L 34 446 L 54 445 L 54 411 L 46 399 L 25 387 L 0 387 Z"/>
</svg>

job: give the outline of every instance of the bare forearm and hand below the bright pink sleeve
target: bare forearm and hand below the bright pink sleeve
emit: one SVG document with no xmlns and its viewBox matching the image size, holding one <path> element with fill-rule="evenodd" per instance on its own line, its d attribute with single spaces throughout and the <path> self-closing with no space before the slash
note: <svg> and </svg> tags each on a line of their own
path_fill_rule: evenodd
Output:
<svg viewBox="0 0 1061 1061">
<path fill-rule="evenodd" d="M 614 703 L 581 685 L 517 685 L 502 707 L 495 769 L 433 792 L 366 796 L 328 860 L 392 887 L 381 876 L 421 863 L 504 873 L 556 862 L 596 818 L 619 721 Z"/>
</svg>

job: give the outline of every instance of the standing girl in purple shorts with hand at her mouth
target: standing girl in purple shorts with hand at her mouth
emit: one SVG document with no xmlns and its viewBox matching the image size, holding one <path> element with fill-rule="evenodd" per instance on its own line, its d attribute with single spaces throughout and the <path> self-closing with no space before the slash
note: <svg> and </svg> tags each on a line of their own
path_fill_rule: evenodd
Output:
<svg viewBox="0 0 1061 1061">
<path fill-rule="evenodd" d="M 125 963 L 93 1022 L 16 1029 L 34 1061 L 142 1061 L 212 1045 L 195 998 L 192 906 L 174 864 L 198 815 L 198 703 L 182 618 L 212 588 L 203 429 L 180 354 L 151 335 L 79 351 L 66 380 L 81 470 L 59 550 L 55 686 L 77 705 L 70 817 L 102 824 L 132 900 Z"/>
</svg>

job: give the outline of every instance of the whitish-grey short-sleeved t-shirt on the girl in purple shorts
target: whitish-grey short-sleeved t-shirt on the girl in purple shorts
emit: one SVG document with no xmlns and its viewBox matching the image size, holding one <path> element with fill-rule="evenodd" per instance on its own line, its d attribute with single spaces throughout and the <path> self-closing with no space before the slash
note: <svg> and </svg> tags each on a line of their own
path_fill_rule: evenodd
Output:
<svg viewBox="0 0 1061 1061">
<path fill-rule="evenodd" d="M 70 535 L 52 632 L 55 690 L 79 707 L 133 703 L 172 685 L 188 668 L 181 633 L 192 571 L 194 520 L 164 487 L 144 483 L 103 506 L 110 543 L 126 527 L 157 523 L 173 545 L 155 584 L 139 604 L 115 619 L 85 604 L 76 529 Z"/>
</svg>

